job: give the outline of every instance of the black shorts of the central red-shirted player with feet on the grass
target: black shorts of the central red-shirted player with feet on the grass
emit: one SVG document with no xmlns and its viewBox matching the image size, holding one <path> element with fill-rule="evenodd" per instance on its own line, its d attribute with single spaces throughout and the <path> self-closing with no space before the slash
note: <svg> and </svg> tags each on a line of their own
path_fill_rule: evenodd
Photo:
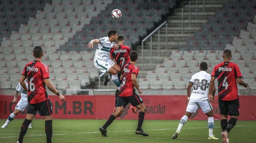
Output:
<svg viewBox="0 0 256 143">
<path fill-rule="evenodd" d="M 125 108 L 125 106 L 129 104 L 129 102 L 131 103 L 132 106 L 138 106 L 143 103 L 139 95 L 134 93 L 133 95 L 127 97 L 119 96 L 117 99 L 116 107 L 124 106 Z"/>
</svg>

